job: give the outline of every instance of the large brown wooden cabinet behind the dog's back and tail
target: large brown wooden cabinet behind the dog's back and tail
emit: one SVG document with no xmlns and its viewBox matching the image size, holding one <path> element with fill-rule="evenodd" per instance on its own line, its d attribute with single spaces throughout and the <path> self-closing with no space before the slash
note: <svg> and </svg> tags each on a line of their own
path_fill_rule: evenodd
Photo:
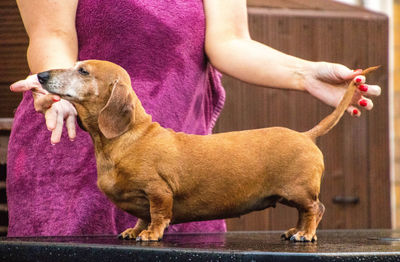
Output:
<svg viewBox="0 0 400 262">
<path fill-rule="evenodd" d="M 338 62 L 354 69 L 384 65 L 369 82 L 387 89 L 388 24 L 384 16 L 369 13 L 366 19 L 362 13 L 338 13 L 323 17 L 318 12 L 269 10 L 249 10 L 254 39 L 314 61 Z M 227 76 L 223 81 L 227 102 L 216 132 L 268 126 L 304 131 L 332 111 L 305 93 L 254 87 Z M 387 101 L 387 94 L 375 99 L 375 109 L 363 113 L 360 119 L 345 115 L 338 126 L 319 139 L 326 166 L 321 200 L 327 207 L 320 228 L 390 227 Z M 338 205 L 332 202 L 335 196 L 357 196 L 360 202 Z M 278 205 L 230 219 L 228 228 L 281 230 L 293 226 L 296 219 L 296 210 Z"/>
</svg>

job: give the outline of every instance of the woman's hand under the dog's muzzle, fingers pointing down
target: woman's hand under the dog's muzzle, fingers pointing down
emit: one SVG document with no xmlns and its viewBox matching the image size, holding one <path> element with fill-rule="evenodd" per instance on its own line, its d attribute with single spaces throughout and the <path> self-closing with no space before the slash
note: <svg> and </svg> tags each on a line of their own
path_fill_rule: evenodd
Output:
<svg viewBox="0 0 400 262">
<path fill-rule="evenodd" d="M 52 95 L 44 90 L 36 75 L 31 75 L 25 80 L 12 84 L 10 89 L 13 92 L 32 91 L 35 110 L 44 114 L 47 129 L 52 132 L 51 143 L 53 145 L 60 142 L 64 120 L 69 139 L 71 141 L 75 139 L 77 116 L 75 107 L 67 100 L 60 99 L 59 96 Z"/>
</svg>

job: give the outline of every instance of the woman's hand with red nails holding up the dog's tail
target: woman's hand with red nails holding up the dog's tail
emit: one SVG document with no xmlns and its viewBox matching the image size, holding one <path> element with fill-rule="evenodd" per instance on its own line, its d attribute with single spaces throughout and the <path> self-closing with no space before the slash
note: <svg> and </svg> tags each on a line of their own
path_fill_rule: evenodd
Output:
<svg viewBox="0 0 400 262">
<path fill-rule="evenodd" d="M 324 103 L 336 107 L 342 99 L 349 82 L 356 78 L 358 89 L 353 96 L 352 105 L 347 112 L 360 116 L 360 108 L 371 110 L 374 106 L 370 96 L 379 96 L 381 88 L 377 85 L 365 84 L 365 77 L 359 75 L 362 70 L 350 70 L 344 65 L 316 62 L 303 72 L 304 88 Z"/>
</svg>

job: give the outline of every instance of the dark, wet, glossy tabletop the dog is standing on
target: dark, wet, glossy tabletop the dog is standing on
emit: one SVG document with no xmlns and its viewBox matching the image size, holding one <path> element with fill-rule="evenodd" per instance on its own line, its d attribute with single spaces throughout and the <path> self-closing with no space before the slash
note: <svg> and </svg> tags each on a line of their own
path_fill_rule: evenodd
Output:
<svg viewBox="0 0 400 262">
<path fill-rule="evenodd" d="M 166 234 L 138 243 L 116 236 L 1 238 L 3 261 L 400 261 L 400 231 L 318 231 L 314 243 L 281 232 Z"/>
</svg>

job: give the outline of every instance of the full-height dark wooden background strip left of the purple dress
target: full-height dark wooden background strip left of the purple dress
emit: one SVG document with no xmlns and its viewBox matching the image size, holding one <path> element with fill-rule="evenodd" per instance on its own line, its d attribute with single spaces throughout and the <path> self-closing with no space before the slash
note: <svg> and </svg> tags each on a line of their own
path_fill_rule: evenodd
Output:
<svg viewBox="0 0 400 262">
<path fill-rule="evenodd" d="M 9 86 L 29 74 L 25 55 L 27 46 L 28 37 L 16 2 L 0 1 L 0 236 L 7 234 L 8 225 L 5 158 L 10 117 L 21 100 L 21 94 L 11 92 Z"/>
</svg>

